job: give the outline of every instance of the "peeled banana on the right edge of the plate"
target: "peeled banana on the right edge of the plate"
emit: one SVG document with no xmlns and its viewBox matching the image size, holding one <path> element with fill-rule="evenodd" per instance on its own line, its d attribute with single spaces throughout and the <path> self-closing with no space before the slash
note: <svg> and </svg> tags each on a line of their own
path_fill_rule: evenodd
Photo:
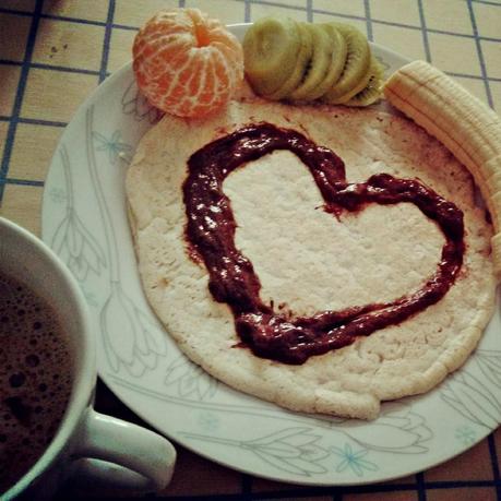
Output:
<svg viewBox="0 0 501 501">
<path fill-rule="evenodd" d="M 386 99 L 441 141 L 472 172 L 492 217 L 494 273 L 501 282 L 501 118 L 425 61 L 396 71 Z"/>
</svg>

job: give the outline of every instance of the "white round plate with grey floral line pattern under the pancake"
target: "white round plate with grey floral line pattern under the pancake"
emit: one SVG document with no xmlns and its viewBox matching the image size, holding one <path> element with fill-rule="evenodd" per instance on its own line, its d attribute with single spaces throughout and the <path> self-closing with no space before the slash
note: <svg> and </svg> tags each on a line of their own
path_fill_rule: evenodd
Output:
<svg viewBox="0 0 501 501">
<path fill-rule="evenodd" d="M 242 37 L 247 26 L 231 31 Z M 373 46 L 386 73 L 406 60 Z M 157 112 L 131 65 L 103 83 L 64 131 L 46 181 L 43 238 L 87 298 L 106 384 L 139 416 L 231 468 L 295 484 L 354 485 L 419 472 L 467 450 L 501 420 L 500 314 L 479 349 L 424 396 L 384 404 L 375 421 L 295 414 L 236 392 L 192 365 L 146 303 L 123 179 Z"/>
</svg>

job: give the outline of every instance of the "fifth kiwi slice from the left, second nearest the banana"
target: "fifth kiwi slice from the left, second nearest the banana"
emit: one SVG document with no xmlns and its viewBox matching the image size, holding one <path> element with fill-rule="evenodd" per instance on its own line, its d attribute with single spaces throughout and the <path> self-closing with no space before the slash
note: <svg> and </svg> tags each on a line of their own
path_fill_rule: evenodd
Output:
<svg viewBox="0 0 501 501">
<path fill-rule="evenodd" d="M 339 80 L 322 96 L 324 103 L 337 105 L 349 100 L 368 84 L 371 53 L 366 36 L 355 26 L 334 22 L 329 24 L 339 31 L 348 46 Z"/>
</svg>

